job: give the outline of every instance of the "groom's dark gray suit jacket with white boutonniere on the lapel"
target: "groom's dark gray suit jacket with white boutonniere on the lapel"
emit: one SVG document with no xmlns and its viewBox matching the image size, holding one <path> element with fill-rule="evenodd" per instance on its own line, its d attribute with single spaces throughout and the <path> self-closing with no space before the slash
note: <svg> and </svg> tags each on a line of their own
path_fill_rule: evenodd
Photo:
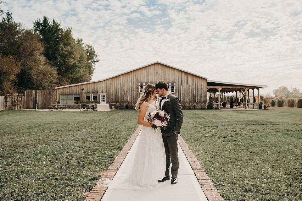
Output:
<svg viewBox="0 0 302 201">
<path fill-rule="evenodd" d="M 174 132 L 178 131 L 178 134 L 180 135 L 180 129 L 183 121 L 182 104 L 180 103 L 179 98 L 176 95 L 171 94 L 171 92 L 167 99 L 169 98 L 170 100 L 165 101 L 163 107 L 160 108 L 170 115 L 170 120 L 168 121 L 167 127 L 165 130 L 161 129 L 161 133 L 163 136 L 170 136 L 175 135 Z M 159 107 L 160 106 L 161 103 L 159 103 Z"/>
</svg>

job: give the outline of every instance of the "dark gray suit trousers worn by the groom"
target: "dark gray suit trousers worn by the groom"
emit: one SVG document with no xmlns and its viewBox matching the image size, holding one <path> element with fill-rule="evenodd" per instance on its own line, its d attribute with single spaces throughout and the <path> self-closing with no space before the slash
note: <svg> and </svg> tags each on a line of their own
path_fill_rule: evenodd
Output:
<svg viewBox="0 0 302 201">
<path fill-rule="evenodd" d="M 170 176 L 170 164 L 172 177 L 177 177 L 178 173 L 178 147 L 177 147 L 178 133 L 170 136 L 163 136 L 165 153 L 166 153 L 166 171 L 165 176 Z"/>
</svg>

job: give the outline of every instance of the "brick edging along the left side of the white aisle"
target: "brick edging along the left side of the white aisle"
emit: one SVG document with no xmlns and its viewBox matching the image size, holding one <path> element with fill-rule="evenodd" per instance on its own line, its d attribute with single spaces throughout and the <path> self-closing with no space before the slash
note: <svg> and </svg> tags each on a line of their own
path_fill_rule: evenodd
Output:
<svg viewBox="0 0 302 201">
<path fill-rule="evenodd" d="M 139 125 L 136 131 L 132 134 L 131 138 L 125 144 L 124 148 L 120 151 L 119 155 L 117 155 L 105 173 L 100 177 L 97 184 L 92 188 L 92 190 L 88 193 L 87 197 L 84 201 L 100 201 L 103 198 L 104 193 L 106 192 L 108 187 L 103 187 L 103 181 L 108 179 L 113 179 L 116 172 L 119 170 L 121 164 L 123 163 L 126 155 L 131 149 L 135 139 L 138 136 L 138 133 L 141 131 L 142 125 Z"/>
</svg>

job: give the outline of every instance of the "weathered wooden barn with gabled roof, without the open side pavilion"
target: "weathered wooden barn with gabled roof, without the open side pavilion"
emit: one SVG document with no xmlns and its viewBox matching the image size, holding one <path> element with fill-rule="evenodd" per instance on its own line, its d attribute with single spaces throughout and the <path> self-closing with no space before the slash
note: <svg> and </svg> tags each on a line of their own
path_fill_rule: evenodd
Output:
<svg viewBox="0 0 302 201">
<path fill-rule="evenodd" d="M 55 89 L 57 102 L 66 108 L 97 103 L 131 109 L 144 86 L 159 80 L 167 81 L 171 93 L 180 98 L 183 109 L 206 108 L 207 78 L 162 62 L 153 62 L 106 79 Z"/>
</svg>

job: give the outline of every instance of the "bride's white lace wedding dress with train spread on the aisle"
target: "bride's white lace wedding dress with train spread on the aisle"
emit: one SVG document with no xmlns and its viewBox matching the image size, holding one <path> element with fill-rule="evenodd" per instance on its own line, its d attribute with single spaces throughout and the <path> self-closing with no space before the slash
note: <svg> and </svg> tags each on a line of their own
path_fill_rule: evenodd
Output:
<svg viewBox="0 0 302 201">
<path fill-rule="evenodd" d="M 144 120 L 148 114 L 156 110 L 155 106 L 148 103 Z M 159 108 L 159 103 L 156 101 Z M 163 137 L 160 129 L 154 131 L 151 127 L 143 126 L 135 151 L 133 166 L 129 174 L 117 180 L 106 180 L 104 187 L 109 189 L 147 190 L 158 184 L 166 170 L 166 156 Z"/>
</svg>

